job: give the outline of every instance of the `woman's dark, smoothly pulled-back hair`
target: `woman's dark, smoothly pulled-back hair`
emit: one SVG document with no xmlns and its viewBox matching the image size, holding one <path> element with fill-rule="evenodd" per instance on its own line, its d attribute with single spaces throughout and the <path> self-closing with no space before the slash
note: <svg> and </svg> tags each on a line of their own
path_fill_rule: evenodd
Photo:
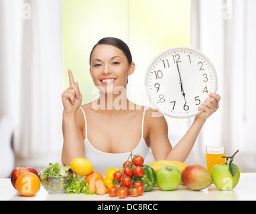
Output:
<svg viewBox="0 0 256 214">
<path fill-rule="evenodd" d="M 125 56 L 127 57 L 128 63 L 131 64 L 133 62 L 133 59 L 131 57 L 131 51 L 128 47 L 128 45 L 122 41 L 121 39 L 117 39 L 115 37 L 105 37 L 101 40 L 98 41 L 98 43 L 96 45 L 94 45 L 94 47 L 92 47 L 92 51 L 94 50 L 95 47 L 97 47 L 97 45 L 113 45 L 119 49 L 121 49 L 123 51 L 123 54 L 125 54 Z M 92 51 L 90 51 L 90 60 L 92 57 Z M 89 62 L 90 64 L 90 62 Z"/>
</svg>

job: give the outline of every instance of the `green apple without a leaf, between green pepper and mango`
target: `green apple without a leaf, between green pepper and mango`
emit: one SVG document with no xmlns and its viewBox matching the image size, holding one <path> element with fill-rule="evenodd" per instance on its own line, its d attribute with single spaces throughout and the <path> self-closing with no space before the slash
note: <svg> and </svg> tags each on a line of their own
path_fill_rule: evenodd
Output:
<svg viewBox="0 0 256 214">
<path fill-rule="evenodd" d="M 156 173 L 156 183 L 161 190 L 174 190 L 181 182 L 182 173 L 178 167 L 167 165 L 158 169 Z"/>
</svg>

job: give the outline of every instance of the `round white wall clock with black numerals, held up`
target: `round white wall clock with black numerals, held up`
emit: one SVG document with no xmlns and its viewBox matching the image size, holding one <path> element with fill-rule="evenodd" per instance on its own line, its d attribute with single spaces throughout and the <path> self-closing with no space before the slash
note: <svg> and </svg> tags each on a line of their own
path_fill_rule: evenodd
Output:
<svg viewBox="0 0 256 214">
<path fill-rule="evenodd" d="M 191 47 L 167 49 L 149 64 L 145 86 L 151 104 L 176 118 L 195 116 L 208 94 L 217 90 L 214 66 Z"/>
</svg>

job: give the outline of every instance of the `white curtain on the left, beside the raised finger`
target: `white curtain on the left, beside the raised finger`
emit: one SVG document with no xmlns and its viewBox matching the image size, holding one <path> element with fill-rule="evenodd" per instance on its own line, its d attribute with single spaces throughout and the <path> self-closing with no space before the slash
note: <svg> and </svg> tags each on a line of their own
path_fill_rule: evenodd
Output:
<svg viewBox="0 0 256 214">
<path fill-rule="evenodd" d="M 0 116 L 13 119 L 18 160 L 60 160 L 60 12 L 60 0 L 0 0 Z"/>
</svg>

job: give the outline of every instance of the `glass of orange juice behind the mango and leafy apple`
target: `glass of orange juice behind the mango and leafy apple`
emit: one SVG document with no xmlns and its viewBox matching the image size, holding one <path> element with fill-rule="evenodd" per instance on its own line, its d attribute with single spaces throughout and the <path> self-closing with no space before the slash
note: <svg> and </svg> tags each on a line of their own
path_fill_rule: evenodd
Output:
<svg viewBox="0 0 256 214">
<path fill-rule="evenodd" d="M 222 158 L 222 156 L 226 156 L 226 146 L 206 146 L 206 164 L 209 173 L 214 165 L 225 163 L 226 158 Z"/>
</svg>

